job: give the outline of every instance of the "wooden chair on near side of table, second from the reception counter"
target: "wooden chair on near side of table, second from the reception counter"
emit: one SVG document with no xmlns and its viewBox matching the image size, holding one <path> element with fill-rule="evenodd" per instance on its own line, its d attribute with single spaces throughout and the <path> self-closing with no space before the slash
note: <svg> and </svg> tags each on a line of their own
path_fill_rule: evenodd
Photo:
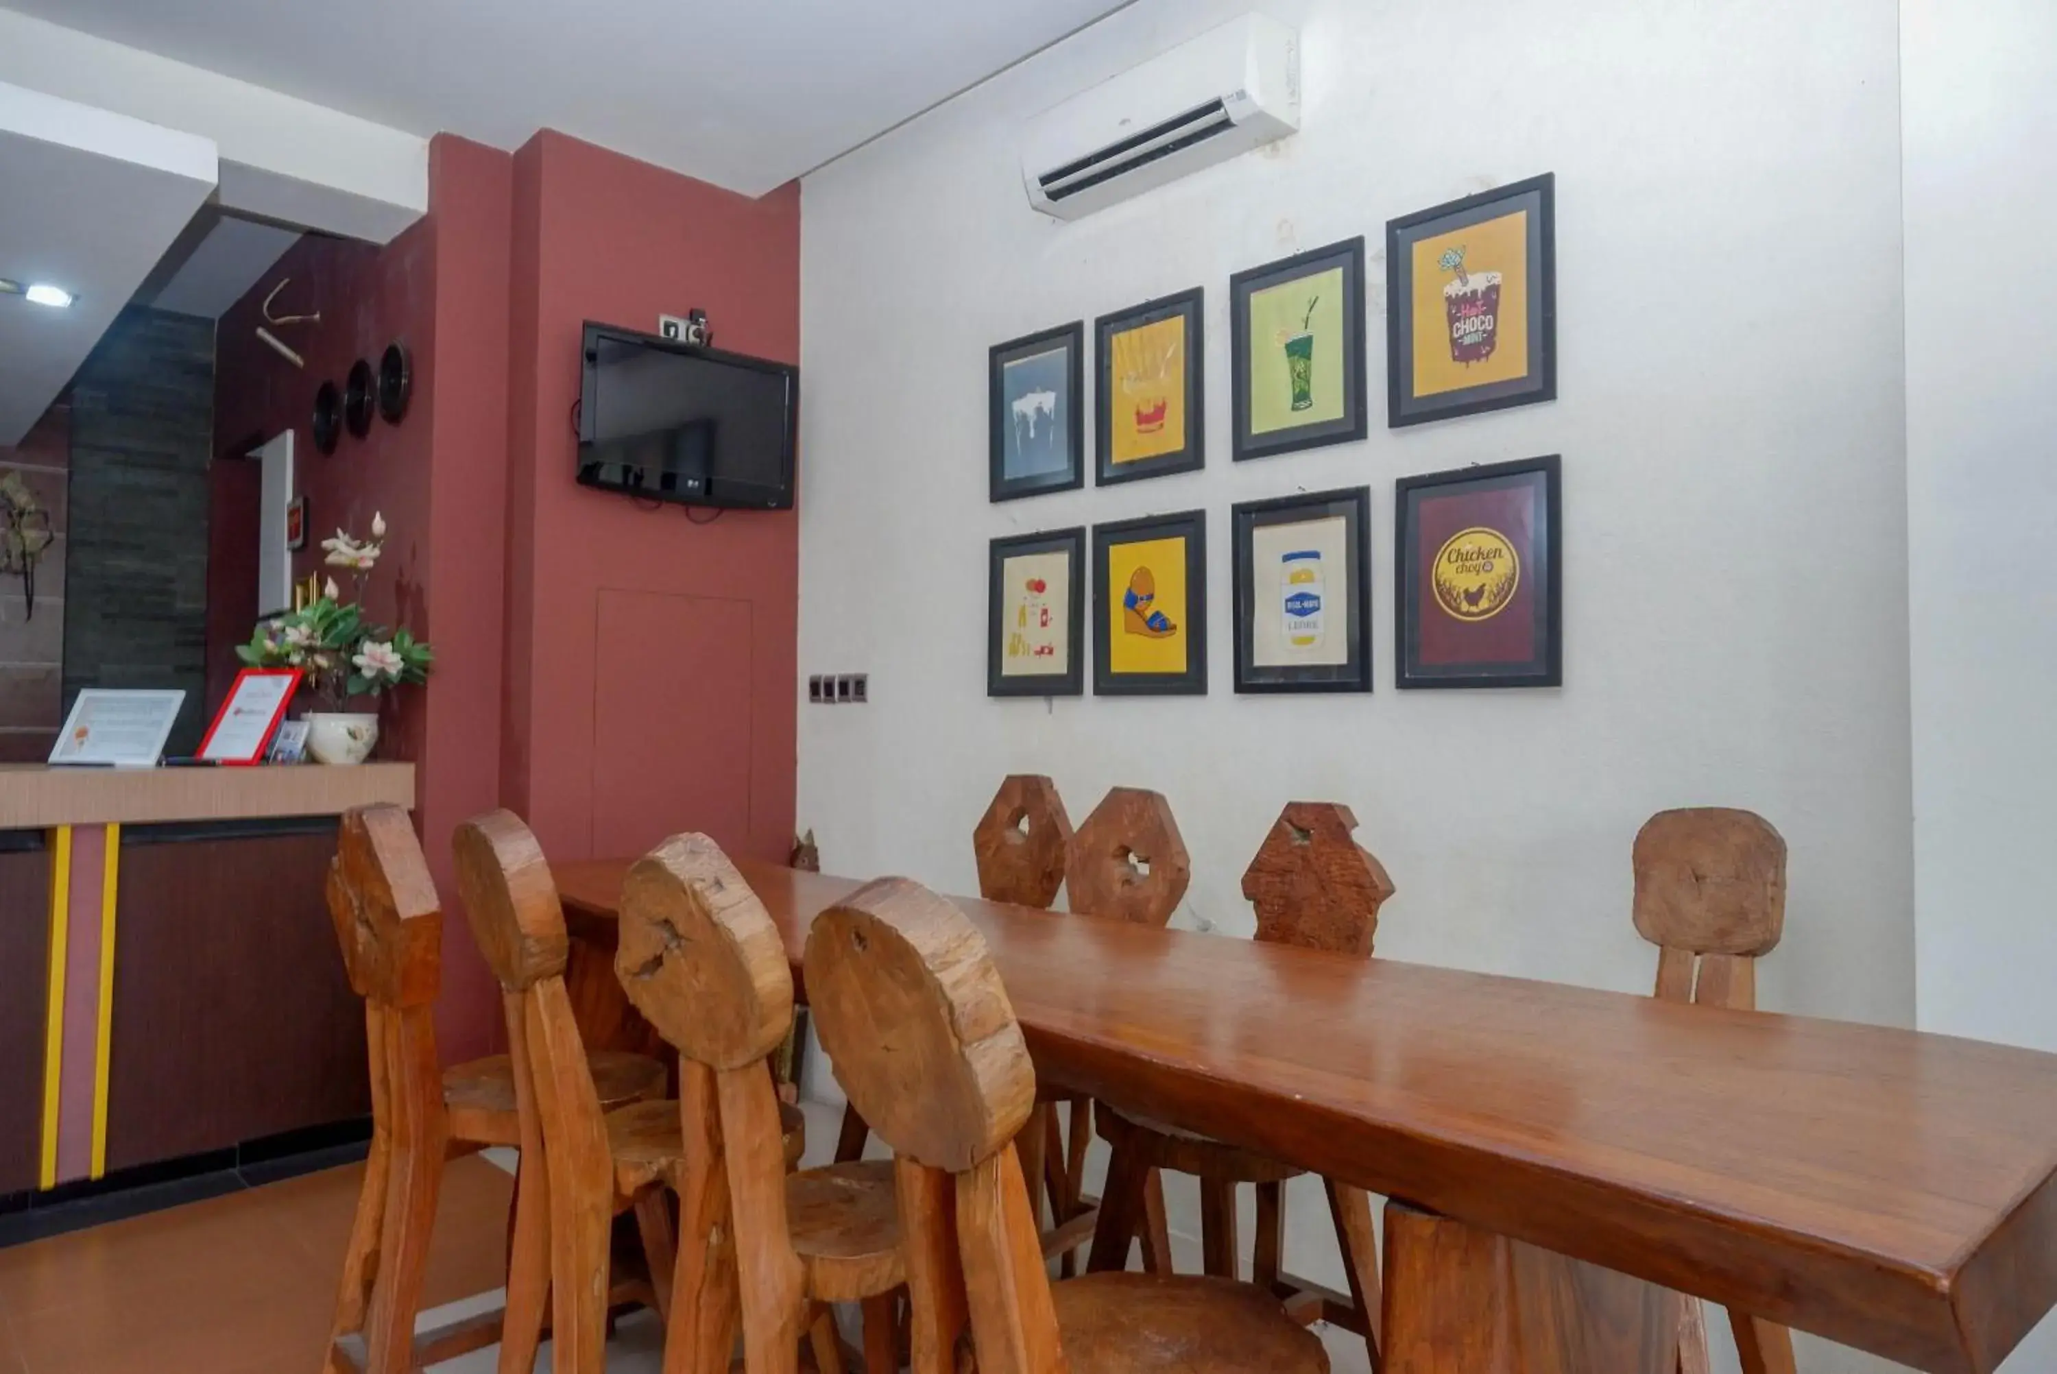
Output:
<svg viewBox="0 0 2057 1374">
<path fill-rule="evenodd" d="M 611 1306 L 671 1306 L 677 1242 L 664 1189 L 681 1177 L 679 1113 L 664 1098 L 660 1061 L 586 1055 L 564 985 L 570 938 L 557 884 L 520 817 L 473 817 L 457 827 L 450 852 L 471 934 L 500 979 L 520 1127 L 500 1370 L 535 1368 L 547 1304 L 551 1368 L 599 1372 Z M 537 1193 L 547 1199 L 541 1207 L 531 1205 Z M 646 1269 L 611 1281 L 613 1220 L 625 1212 L 636 1214 Z"/>
</svg>

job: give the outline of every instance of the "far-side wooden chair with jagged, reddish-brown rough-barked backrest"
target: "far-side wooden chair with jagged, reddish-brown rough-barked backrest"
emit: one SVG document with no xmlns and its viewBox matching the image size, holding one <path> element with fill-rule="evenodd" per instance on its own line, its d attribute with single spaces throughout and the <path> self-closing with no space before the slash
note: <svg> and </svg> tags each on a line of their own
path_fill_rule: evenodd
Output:
<svg viewBox="0 0 2057 1374">
<path fill-rule="evenodd" d="M 1242 874 L 1242 895 L 1257 907 L 1257 940 L 1372 956 L 1378 907 L 1393 897 L 1393 878 L 1351 839 L 1356 829 L 1358 819 L 1335 802 L 1292 802 L 1279 812 Z M 1094 1117 L 1100 1135 L 1113 1146 L 1113 1158 L 1100 1199 L 1100 1234 L 1109 1238 L 1109 1249 L 1094 1236 L 1092 1269 L 1121 1269 L 1127 1263 L 1121 1228 L 1135 1203 L 1121 1191 L 1133 1189 L 1131 1181 L 1144 1170 L 1170 1168 L 1199 1179 L 1201 1267 L 1216 1277 L 1236 1277 L 1236 1187 L 1251 1183 L 1257 1187 L 1251 1279 L 1284 1298 L 1300 1321 L 1329 1321 L 1362 1335 L 1372 1368 L 1378 1368 L 1378 1238 L 1368 1193 L 1323 1181 L 1349 1277 L 1349 1294 L 1335 1294 L 1286 1277 L 1279 1269 L 1286 1253 L 1284 1191 L 1304 1170 L 1107 1102 L 1098 1105 Z"/>
</svg>

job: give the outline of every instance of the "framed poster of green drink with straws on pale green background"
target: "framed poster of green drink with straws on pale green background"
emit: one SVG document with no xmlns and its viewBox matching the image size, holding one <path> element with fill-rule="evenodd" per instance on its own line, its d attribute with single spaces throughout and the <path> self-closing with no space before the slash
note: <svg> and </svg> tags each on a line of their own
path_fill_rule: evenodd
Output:
<svg viewBox="0 0 2057 1374">
<path fill-rule="evenodd" d="M 1364 438 L 1364 239 L 1228 278 L 1232 453 Z"/>
</svg>

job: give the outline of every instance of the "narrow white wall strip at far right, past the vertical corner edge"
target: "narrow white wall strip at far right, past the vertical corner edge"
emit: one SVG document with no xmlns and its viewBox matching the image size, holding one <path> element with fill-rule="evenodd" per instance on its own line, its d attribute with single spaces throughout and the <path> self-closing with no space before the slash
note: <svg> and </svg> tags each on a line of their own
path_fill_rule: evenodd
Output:
<svg viewBox="0 0 2057 1374">
<path fill-rule="evenodd" d="M 1901 16 L 1919 1024 L 2057 1049 L 2057 8 Z"/>
</svg>

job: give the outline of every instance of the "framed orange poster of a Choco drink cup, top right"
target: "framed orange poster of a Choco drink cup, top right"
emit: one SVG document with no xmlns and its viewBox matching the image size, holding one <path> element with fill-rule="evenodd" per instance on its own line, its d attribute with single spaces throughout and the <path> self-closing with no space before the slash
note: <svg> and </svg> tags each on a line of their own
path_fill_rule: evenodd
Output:
<svg viewBox="0 0 2057 1374">
<path fill-rule="evenodd" d="M 1386 424 L 1555 399 L 1555 175 L 1386 224 Z"/>
</svg>

